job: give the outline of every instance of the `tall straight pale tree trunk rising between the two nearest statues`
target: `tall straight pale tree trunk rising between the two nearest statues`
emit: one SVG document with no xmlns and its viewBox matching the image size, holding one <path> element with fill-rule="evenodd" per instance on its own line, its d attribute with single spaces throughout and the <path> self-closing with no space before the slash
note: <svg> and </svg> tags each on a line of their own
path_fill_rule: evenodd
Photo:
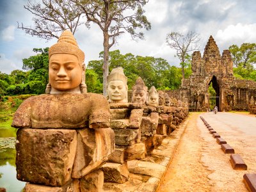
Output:
<svg viewBox="0 0 256 192">
<path fill-rule="evenodd" d="M 103 31 L 104 40 L 103 40 L 103 95 L 107 96 L 107 76 L 109 73 L 109 35 L 108 31 Z"/>
</svg>

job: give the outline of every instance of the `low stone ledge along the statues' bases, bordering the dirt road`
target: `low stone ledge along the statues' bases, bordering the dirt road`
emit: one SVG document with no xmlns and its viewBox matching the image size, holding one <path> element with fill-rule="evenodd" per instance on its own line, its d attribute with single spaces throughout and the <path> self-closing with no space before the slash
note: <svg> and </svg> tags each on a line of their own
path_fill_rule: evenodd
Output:
<svg viewBox="0 0 256 192">
<path fill-rule="evenodd" d="M 131 173 L 129 180 L 124 184 L 104 182 L 104 191 L 111 191 L 110 189 L 124 192 L 156 191 L 164 173 L 172 162 L 188 122 L 189 115 L 175 131 L 164 138 L 162 144 L 153 150 L 151 156 L 145 159 L 128 161 L 127 164 Z M 139 182 L 136 180 L 138 177 L 147 177 L 147 181 Z"/>
</svg>

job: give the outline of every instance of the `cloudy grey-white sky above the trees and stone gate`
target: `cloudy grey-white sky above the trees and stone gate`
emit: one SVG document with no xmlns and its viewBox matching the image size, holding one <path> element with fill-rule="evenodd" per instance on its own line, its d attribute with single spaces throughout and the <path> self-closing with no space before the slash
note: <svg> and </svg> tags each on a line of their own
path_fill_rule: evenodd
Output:
<svg viewBox="0 0 256 192">
<path fill-rule="evenodd" d="M 26 26 L 32 23 L 33 15 L 23 8 L 26 2 L 0 0 L 0 71 L 7 74 L 21 69 L 22 58 L 35 54 L 33 48 L 50 47 L 57 41 L 45 42 L 17 29 L 17 22 Z M 145 40 L 132 41 L 131 36 L 125 34 L 110 51 L 119 49 L 122 54 L 161 57 L 170 65 L 179 66 L 175 51 L 165 43 L 166 34 L 171 31 L 199 33 L 202 54 L 210 35 L 221 53 L 232 44 L 256 42 L 256 3 L 253 0 L 149 0 L 144 8 L 152 24 L 150 31 L 143 31 Z M 97 26 L 79 28 L 75 38 L 86 55 L 85 63 L 99 59 L 103 47 L 102 32 Z"/>
</svg>

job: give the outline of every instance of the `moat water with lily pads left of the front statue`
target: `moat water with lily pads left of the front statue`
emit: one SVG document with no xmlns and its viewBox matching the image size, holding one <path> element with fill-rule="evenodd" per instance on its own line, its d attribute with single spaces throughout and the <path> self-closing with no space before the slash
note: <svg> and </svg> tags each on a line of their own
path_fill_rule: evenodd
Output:
<svg viewBox="0 0 256 192">
<path fill-rule="evenodd" d="M 0 128 L 0 188 L 8 192 L 22 191 L 26 184 L 16 179 L 16 131 L 15 128 Z"/>
</svg>

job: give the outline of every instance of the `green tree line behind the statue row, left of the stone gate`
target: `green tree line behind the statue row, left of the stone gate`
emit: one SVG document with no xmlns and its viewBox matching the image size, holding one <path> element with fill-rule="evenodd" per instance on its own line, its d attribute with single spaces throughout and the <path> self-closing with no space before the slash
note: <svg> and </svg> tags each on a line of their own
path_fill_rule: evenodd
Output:
<svg viewBox="0 0 256 192">
<path fill-rule="evenodd" d="M 99 57 L 103 57 L 100 52 Z M 185 77 L 191 74 L 190 56 L 187 57 L 184 65 Z M 88 68 L 92 69 L 98 77 L 102 77 L 103 60 L 89 61 Z M 131 89 L 136 79 L 141 77 L 144 83 L 150 88 L 155 86 L 159 90 L 177 89 L 181 84 L 182 68 L 170 66 L 163 58 L 154 58 L 149 56 L 134 56 L 131 53 L 120 54 L 119 50 L 109 52 L 109 70 L 113 68 L 124 68 L 125 76 L 128 79 L 128 88 Z M 86 74 L 86 78 L 87 74 Z M 99 79 L 102 83 L 102 78 Z M 88 83 L 86 83 L 89 86 Z M 89 89 L 88 89 L 89 90 Z"/>
</svg>

